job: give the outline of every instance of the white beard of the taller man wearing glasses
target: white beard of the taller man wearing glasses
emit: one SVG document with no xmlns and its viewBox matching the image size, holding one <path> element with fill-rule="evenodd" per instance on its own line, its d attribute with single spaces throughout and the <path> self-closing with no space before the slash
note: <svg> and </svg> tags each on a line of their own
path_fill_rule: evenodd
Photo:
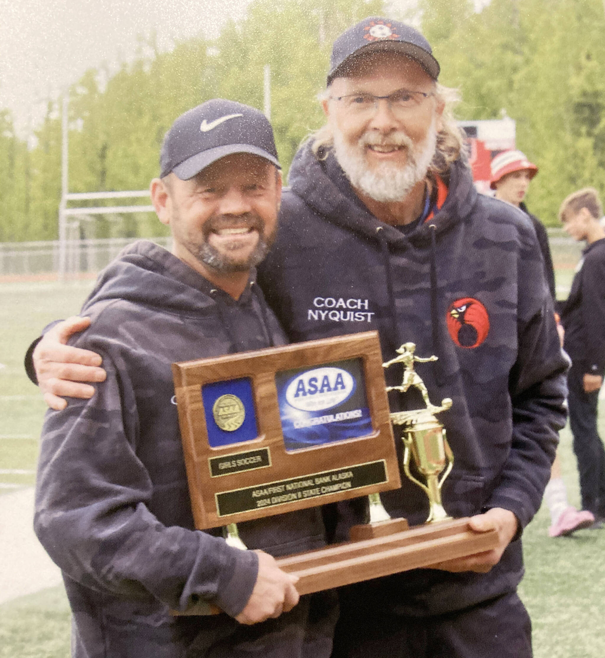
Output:
<svg viewBox="0 0 605 658">
<path fill-rule="evenodd" d="M 377 137 L 372 132 L 364 133 L 358 142 L 351 146 L 345 142 L 342 132 L 333 126 L 334 154 L 357 190 L 375 201 L 403 201 L 410 190 L 425 178 L 437 147 L 436 120 L 423 143 L 414 147 L 412 140 L 402 131 L 388 137 Z M 397 144 L 406 147 L 408 159 L 404 165 L 378 163 L 370 168 L 366 162 L 366 145 Z"/>
</svg>

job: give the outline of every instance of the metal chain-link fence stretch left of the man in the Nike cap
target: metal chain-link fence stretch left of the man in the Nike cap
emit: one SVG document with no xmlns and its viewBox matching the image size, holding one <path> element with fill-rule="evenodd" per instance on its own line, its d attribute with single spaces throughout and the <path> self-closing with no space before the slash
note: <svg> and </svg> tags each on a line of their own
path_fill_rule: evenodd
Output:
<svg viewBox="0 0 605 658">
<path fill-rule="evenodd" d="M 108 265 L 137 238 L 106 238 L 66 241 L 66 276 L 93 275 Z M 172 238 L 149 238 L 170 249 Z M 59 240 L 0 243 L 0 277 L 46 276 L 59 273 Z"/>
</svg>

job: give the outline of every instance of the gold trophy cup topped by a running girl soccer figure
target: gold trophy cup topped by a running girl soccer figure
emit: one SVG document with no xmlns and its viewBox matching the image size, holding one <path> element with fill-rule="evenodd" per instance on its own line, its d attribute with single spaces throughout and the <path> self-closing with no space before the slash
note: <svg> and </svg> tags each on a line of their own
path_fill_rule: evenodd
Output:
<svg viewBox="0 0 605 658">
<path fill-rule="evenodd" d="M 430 511 L 426 522 L 434 523 L 451 518 L 447 515 L 441 503 L 441 486 L 443 486 L 445 478 L 452 470 L 454 455 L 447 442 L 445 429 L 439 420 L 435 418 L 435 414 L 450 409 L 452 401 L 450 398 L 445 397 L 440 406 L 431 403 L 422 378 L 414 370 L 414 363 L 437 361 L 437 357 L 417 357 L 414 354 L 415 351 L 416 345 L 414 343 L 404 343 L 397 349 L 399 356 L 383 363 L 383 367 L 388 368 L 394 363 L 404 365 L 401 386 L 387 386 L 387 391 L 397 390 L 405 393 L 411 386 L 414 386 L 422 393 L 422 398 L 426 404 L 425 409 L 391 413 L 391 422 L 393 425 L 402 426 L 404 443 L 403 470 L 406 476 L 422 488 L 429 497 Z M 424 476 L 426 484 L 420 482 L 410 472 L 410 460 L 412 458 L 416 469 Z"/>
</svg>

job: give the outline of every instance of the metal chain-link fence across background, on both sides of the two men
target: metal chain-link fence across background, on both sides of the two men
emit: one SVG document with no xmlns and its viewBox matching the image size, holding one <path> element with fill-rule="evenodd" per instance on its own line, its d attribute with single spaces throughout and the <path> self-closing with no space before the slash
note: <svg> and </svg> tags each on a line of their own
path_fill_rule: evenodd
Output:
<svg viewBox="0 0 605 658">
<path fill-rule="evenodd" d="M 561 229 L 549 229 L 548 238 L 557 270 L 573 271 L 581 257 L 582 246 Z M 126 245 L 137 238 L 67 240 L 66 275 L 70 278 L 92 276 L 102 270 Z M 149 238 L 170 249 L 172 239 Z M 0 243 L 0 277 L 46 276 L 59 272 L 59 241 Z"/>
</svg>

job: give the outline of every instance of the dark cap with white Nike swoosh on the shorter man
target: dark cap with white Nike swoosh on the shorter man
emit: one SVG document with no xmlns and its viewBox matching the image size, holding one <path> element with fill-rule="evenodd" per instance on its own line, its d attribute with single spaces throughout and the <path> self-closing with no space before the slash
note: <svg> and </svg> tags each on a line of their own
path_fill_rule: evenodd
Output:
<svg viewBox="0 0 605 658">
<path fill-rule="evenodd" d="M 233 153 L 252 153 L 279 166 L 273 129 L 254 107 L 214 98 L 181 114 L 164 137 L 160 178 L 189 180 Z"/>
</svg>

